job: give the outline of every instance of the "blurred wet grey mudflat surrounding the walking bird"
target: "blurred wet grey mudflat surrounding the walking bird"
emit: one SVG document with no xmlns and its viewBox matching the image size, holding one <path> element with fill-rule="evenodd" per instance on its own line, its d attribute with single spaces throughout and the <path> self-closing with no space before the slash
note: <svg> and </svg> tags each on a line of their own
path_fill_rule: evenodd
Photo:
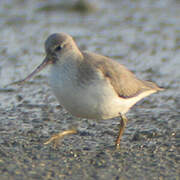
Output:
<svg viewBox="0 0 180 180">
<path fill-rule="evenodd" d="M 79 121 L 81 134 L 58 150 L 43 145 L 76 119 L 58 106 L 48 69 L 3 88 L 42 62 L 55 32 L 167 89 L 129 112 L 121 150 L 113 148 L 118 118 Z M 1 0 L 0 99 L 1 179 L 178 179 L 180 1 Z"/>
</svg>

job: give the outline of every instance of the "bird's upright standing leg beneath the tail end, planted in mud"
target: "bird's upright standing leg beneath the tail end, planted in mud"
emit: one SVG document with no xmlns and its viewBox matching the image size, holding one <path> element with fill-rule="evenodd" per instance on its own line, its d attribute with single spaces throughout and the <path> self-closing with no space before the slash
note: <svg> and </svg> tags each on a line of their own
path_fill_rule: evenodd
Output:
<svg viewBox="0 0 180 180">
<path fill-rule="evenodd" d="M 123 135 L 124 129 L 125 129 L 127 121 L 128 121 L 127 117 L 124 114 L 120 114 L 120 116 L 121 116 L 121 123 L 120 123 L 119 134 L 116 139 L 116 147 L 119 147 L 119 145 L 120 145 L 121 137 Z"/>
</svg>

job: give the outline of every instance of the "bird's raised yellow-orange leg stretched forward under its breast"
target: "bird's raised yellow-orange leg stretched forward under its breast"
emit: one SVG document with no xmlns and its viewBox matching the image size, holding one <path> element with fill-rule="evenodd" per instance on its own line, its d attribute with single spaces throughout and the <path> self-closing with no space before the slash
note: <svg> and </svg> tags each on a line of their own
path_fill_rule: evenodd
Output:
<svg viewBox="0 0 180 180">
<path fill-rule="evenodd" d="M 54 144 L 54 148 L 57 147 L 58 145 L 58 140 L 59 139 L 62 139 L 64 136 L 66 135 L 69 135 L 69 134 L 76 134 L 77 133 L 77 130 L 66 130 L 66 131 L 63 131 L 63 132 L 60 132 L 58 134 L 54 134 L 48 141 L 46 141 L 44 144 L 47 145 L 47 144 L 50 144 L 51 142 L 53 142 Z"/>
</svg>

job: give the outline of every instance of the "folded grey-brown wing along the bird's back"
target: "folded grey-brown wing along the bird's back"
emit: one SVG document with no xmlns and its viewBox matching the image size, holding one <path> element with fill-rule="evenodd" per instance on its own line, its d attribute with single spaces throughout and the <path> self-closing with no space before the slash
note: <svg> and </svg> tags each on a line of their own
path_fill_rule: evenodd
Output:
<svg viewBox="0 0 180 180">
<path fill-rule="evenodd" d="M 90 64 L 100 69 L 110 81 L 119 97 L 134 97 L 144 91 L 160 90 L 160 88 L 148 81 L 139 80 L 131 71 L 118 62 L 95 53 L 85 52 L 84 56 Z"/>
</svg>

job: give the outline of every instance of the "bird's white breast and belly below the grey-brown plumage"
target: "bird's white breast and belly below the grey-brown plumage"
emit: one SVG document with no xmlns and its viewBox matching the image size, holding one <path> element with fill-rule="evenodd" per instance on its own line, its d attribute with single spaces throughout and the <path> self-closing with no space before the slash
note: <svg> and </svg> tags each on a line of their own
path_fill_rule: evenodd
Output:
<svg viewBox="0 0 180 180">
<path fill-rule="evenodd" d="M 101 77 L 101 74 L 98 77 Z M 103 78 L 79 86 L 76 83 L 74 68 L 67 71 L 60 66 L 52 66 L 50 85 L 60 104 L 67 111 L 72 115 L 90 119 L 117 117 L 119 113 L 126 113 L 143 96 L 120 98 L 111 84 Z"/>
</svg>

